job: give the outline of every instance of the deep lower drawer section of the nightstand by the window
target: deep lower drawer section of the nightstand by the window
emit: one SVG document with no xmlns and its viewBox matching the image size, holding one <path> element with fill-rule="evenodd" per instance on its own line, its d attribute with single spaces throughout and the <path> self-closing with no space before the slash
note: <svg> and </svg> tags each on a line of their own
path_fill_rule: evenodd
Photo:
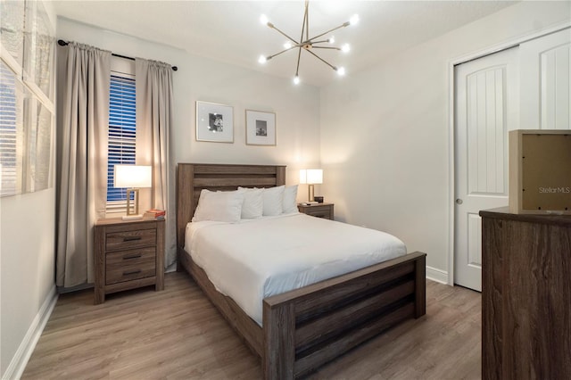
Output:
<svg viewBox="0 0 571 380">
<path fill-rule="evenodd" d="M 156 248 L 107 253 L 105 261 L 105 285 L 153 277 L 156 273 Z"/>
</svg>

